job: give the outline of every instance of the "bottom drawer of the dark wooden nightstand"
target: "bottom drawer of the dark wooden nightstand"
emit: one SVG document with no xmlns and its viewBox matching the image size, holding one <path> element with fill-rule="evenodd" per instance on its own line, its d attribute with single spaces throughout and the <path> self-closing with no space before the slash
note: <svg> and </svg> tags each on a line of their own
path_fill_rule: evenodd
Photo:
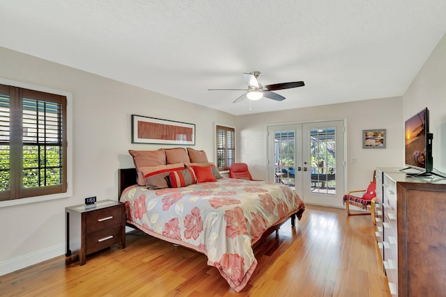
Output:
<svg viewBox="0 0 446 297">
<path fill-rule="evenodd" d="M 121 225 L 86 235 L 86 255 L 121 242 Z"/>
</svg>

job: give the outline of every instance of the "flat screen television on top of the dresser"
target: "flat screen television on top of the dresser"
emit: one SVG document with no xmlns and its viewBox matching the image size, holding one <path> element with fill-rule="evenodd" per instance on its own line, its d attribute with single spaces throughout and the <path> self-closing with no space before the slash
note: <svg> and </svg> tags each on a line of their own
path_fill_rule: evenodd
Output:
<svg viewBox="0 0 446 297">
<path fill-rule="evenodd" d="M 413 115 L 406 120 L 404 127 L 406 166 L 420 170 L 420 173 L 408 174 L 430 175 L 433 169 L 433 137 L 429 133 L 429 110 L 426 108 Z"/>
</svg>

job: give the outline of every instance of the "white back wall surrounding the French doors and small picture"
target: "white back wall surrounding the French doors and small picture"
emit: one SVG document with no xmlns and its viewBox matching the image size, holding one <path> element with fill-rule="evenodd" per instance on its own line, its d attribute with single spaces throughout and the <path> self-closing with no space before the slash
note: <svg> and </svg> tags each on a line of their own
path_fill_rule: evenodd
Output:
<svg viewBox="0 0 446 297">
<path fill-rule="evenodd" d="M 293 98 L 287 98 L 293 100 Z M 266 127 L 278 123 L 346 119 L 347 188 L 364 188 L 377 166 L 403 166 L 401 97 L 370 99 L 237 117 L 237 159 L 249 163 L 256 179 L 266 179 Z M 363 129 L 387 129 L 385 149 L 362 149 Z M 249 138 L 245 137 L 249 135 Z M 253 153 L 255 152 L 255 153 Z M 356 162 L 351 160 L 355 158 Z"/>
</svg>

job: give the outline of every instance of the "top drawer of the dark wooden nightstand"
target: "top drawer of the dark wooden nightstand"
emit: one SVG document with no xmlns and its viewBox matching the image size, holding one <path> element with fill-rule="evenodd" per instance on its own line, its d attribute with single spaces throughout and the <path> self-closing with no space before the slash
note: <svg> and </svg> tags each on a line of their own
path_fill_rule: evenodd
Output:
<svg viewBox="0 0 446 297">
<path fill-rule="evenodd" d="M 91 211 L 86 216 L 86 232 L 91 233 L 114 225 L 121 225 L 122 215 L 121 206 Z"/>
</svg>

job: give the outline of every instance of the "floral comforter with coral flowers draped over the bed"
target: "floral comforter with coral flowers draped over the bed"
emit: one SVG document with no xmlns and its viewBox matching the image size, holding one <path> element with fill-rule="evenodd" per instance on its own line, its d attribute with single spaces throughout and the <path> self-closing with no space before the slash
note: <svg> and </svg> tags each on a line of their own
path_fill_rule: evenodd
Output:
<svg viewBox="0 0 446 297">
<path fill-rule="evenodd" d="M 160 239 L 203 252 L 236 291 L 256 268 L 252 245 L 268 227 L 305 205 L 291 188 L 272 182 L 217 179 L 184 188 L 130 186 L 121 196 L 127 219 Z"/>
</svg>

